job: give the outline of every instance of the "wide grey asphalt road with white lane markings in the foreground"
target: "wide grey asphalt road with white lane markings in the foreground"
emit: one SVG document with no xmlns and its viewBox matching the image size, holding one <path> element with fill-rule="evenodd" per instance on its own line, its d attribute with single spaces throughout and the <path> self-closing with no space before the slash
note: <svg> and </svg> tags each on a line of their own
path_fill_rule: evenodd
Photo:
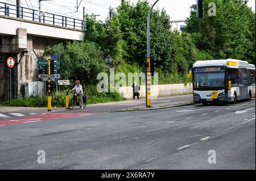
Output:
<svg viewBox="0 0 256 181">
<path fill-rule="evenodd" d="M 0 135 L 0 169 L 255 169 L 255 99 L 80 114 L 5 125 Z"/>
</svg>

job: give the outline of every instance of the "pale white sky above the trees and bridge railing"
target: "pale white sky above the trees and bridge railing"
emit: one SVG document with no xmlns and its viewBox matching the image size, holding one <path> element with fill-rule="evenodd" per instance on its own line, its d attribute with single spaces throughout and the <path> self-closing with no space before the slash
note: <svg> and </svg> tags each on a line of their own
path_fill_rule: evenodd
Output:
<svg viewBox="0 0 256 181">
<path fill-rule="evenodd" d="M 80 3 L 78 12 L 76 9 L 77 1 Z M 126 1 L 126 0 L 125 0 Z M 150 4 L 155 0 L 148 0 Z M 15 3 L 16 0 L 0 0 L 0 2 Z M 38 0 L 20 0 L 23 7 L 30 7 L 31 9 L 38 10 Z M 137 3 L 138 0 L 130 0 L 131 3 Z M 121 0 L 43 0 L 41 2 L 42 11 L 48 11 L 53 14 L 61 14 L 65 16 L 73 16 L 77 19 L 82 19 L 82 10 L 85 7 L 85 13 L 100 15 L 97 19 L 105 20 L 109 16 L 109 7 L 112 8 L 120 5 Z M 155 8 L 166 9 L 170 15 L 171 20 L 184 20 L 189 16 L 191 5 L 195 4 L 196 0 L 159 0 Z M 249 7 L 252 7 L 255 12 L 255 0 L 249 0 Z M 179 27 L 179 23 L 173 24 L 173 27 Z"/>
</svg>

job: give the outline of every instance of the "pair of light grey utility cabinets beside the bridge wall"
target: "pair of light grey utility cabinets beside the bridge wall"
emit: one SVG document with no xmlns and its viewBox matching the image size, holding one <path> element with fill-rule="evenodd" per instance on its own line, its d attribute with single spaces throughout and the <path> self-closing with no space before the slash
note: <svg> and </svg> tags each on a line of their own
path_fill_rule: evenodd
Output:
<svg viewBox="0 0 256 181">
<path fill-rule="evenodd" d="M 33 95 L 43 95 L 45 94 L 46 90 L 44 87 L 43 81 L 38 82 L 26 82 L 25 83 L 25 97 L 28 98 L 29 96 Z"/>
</svg>

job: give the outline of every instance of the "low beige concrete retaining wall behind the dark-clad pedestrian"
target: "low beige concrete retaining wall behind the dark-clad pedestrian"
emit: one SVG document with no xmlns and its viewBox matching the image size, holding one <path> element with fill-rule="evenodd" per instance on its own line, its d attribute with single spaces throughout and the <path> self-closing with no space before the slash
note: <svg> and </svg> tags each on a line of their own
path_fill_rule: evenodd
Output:
<svg viewBox="0 0 256 181">
<path fill-rule="evenodd" d="M 139 94 L 141 97 L 145 97 L 146 88 L 145 86 L 140 86 L 141 90 Z M 133 98 L 133 87 L 126 86 L 120 87 L 119 93 L 123 95 L 126 99 Z M 170 96 L 170 95 L 184 95 L 193 93 L 193 84 L 179 83 L 179 84 L 168 84 L 168 85 L 152 85 L 151 86 L 151 98 L 156 98 L 159 96 Z"/>
</svg>

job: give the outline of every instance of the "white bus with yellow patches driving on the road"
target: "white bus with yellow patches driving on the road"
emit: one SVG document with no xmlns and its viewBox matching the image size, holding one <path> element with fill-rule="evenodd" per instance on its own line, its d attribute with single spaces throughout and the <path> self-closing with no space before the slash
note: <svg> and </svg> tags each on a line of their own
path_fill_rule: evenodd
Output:
<svg viewBox="0 0 256 181">
<path fill-rule="evenodd" d="M 193 101 L 207 105 L 255 97 L 255 65 L 241 60 L 197 61 L 188 71 L 193 77 Z"/>
</svg>

